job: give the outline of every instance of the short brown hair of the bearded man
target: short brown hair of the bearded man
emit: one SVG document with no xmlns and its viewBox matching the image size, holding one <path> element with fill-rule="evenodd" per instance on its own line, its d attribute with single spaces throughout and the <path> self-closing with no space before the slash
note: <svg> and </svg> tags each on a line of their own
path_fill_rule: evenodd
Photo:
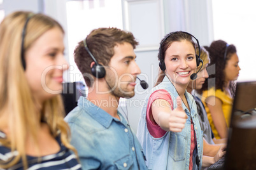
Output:
<svg viewBox="0 0 256 170">
<path fill-rule="evenodd" d="M 92 30 L 86 38 L 86 43 L 92 55 L 98 63 L 108 65 L 111 57 L 114 55 L 114 47 L 117 44 L 128 42 L 133 48 L 136 48 L 138 42 L 131 32 L 126 32 L 117 28 L 99 28 Z M 93 62 L 89 53 L 86 51 L 83 41 L 78 42 L 75 51 L 75 62 L 78 69 L 83 74 L 83 78 L 88 87 L 92 86 L 92 74 L 90 63 Z"/>
</svg>

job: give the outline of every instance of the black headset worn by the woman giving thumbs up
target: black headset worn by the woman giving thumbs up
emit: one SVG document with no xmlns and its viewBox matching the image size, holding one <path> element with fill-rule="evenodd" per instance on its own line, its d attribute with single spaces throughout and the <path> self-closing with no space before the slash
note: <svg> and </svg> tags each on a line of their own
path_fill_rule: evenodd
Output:
<svg viewBox="0 0 256 170">
<path fill-rule="evenodd" d="M 160 47 L 159 47 L 159 54 L 158 54 L 158 58 L 159 58 L 159 67 L 162 71 L 166 70 L 166 63 L 164 63 L 164 56 L 162 56 L 162 44 L 166 41 L 166 39 L 173 35 L 173 34 L 178 34 L 179 32 L 182 32 L 182 33 L 185 33 L 185 34 L 188 34 L 188 36 L 191 36 L 191 37 L 194 37 L 192 34 L 188 33 L 188 32 L 184 32 L 184 31 L 176 31 L 176 32 L 171 32 L 169 34 L 166 35 L 166 37 L 164 37 L 164 39 L 162 39 L 162 41 L 160 42 Z M 196 37 L 194 37 L 194 39 L 196 39 Z M 199 51 L 199 54 L 197 55 L 196 54 L 196 65 L 197 67 L 200 65 L 200 63 L 202 63 L 202 67 L 203 67 L 203 60 L 201 60 L 200 56 L 201 56 L 201 49 L 200 49 L 200 44 L 199 44 L 199 41 L 198 39 L 196 39 L 196 42 L 197 42 L 197 46 L 198 46 L 198 51 Z M 201 68 L 202 68 L 201 67 Z M 197 71 L 197 73 L 201 70 L 201 68 Z M 191 79 L 196 79 L 196 76 L 197 76 L 197 73 L 194 73 L 192 74 L 193 76 L 191 77 Z"/>
</svg>

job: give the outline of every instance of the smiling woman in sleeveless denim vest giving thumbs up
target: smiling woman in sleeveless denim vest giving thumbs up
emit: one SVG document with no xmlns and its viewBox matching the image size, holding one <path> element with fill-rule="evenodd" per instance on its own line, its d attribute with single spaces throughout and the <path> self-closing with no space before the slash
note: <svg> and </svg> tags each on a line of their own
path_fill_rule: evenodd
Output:
<svg viewBox="0 0 256 170">
<path fill-rule="evenodd" d="M 201 169 L 203 133 L 186 91 L 199 63 L 192 37 L 171 32 L 160 42 L 159 79 L 146 96 L 137 131 L 148 169 Z"/>
</svg>

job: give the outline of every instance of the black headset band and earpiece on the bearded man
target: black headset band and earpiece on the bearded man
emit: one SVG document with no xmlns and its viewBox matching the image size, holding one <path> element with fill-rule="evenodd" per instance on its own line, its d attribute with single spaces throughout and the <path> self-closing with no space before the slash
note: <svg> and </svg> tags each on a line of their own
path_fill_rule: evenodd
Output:
<svg viewBox="0 0 256 170">
<path fill-rule="evenodd" d="M 92 60 L 94 60 L 94 62 L 95 62 L 95 64 L 90 69 L 90 71 L 92 72 L 92 75 L 94 75 L 94 77 L 96 77 L 98 79 L 105 77 L 106 70 L 104 69 L 103 65 L 101 65 L 97 62 L 96 58 L 90 52 L 90 50 L 87 46 L 87 43 L 86 43 L 86 38 L 83 40 L 83 44 L 85 46 L 87 53 L 89 53 L 90 57 L 92 57 Z"/>
</svg>

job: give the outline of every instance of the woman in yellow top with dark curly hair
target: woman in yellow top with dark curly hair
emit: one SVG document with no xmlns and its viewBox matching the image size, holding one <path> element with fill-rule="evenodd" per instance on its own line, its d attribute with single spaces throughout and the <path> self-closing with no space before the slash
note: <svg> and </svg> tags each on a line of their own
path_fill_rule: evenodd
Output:
<svg viewBox="0 0 256 170">
<path fill-rule="evenodd" d="M 204 107 L 215 138 L 227 138 L 227 129 L 231 117 L 235 84 L 240 67 L 236 47 L 227 42 L 213 41 L 209 52 L 211 65 L 215 66 L 215 74 L 203 84 Z M 212 81 L 213 80 L 213 81 Z"/>
</svg>

